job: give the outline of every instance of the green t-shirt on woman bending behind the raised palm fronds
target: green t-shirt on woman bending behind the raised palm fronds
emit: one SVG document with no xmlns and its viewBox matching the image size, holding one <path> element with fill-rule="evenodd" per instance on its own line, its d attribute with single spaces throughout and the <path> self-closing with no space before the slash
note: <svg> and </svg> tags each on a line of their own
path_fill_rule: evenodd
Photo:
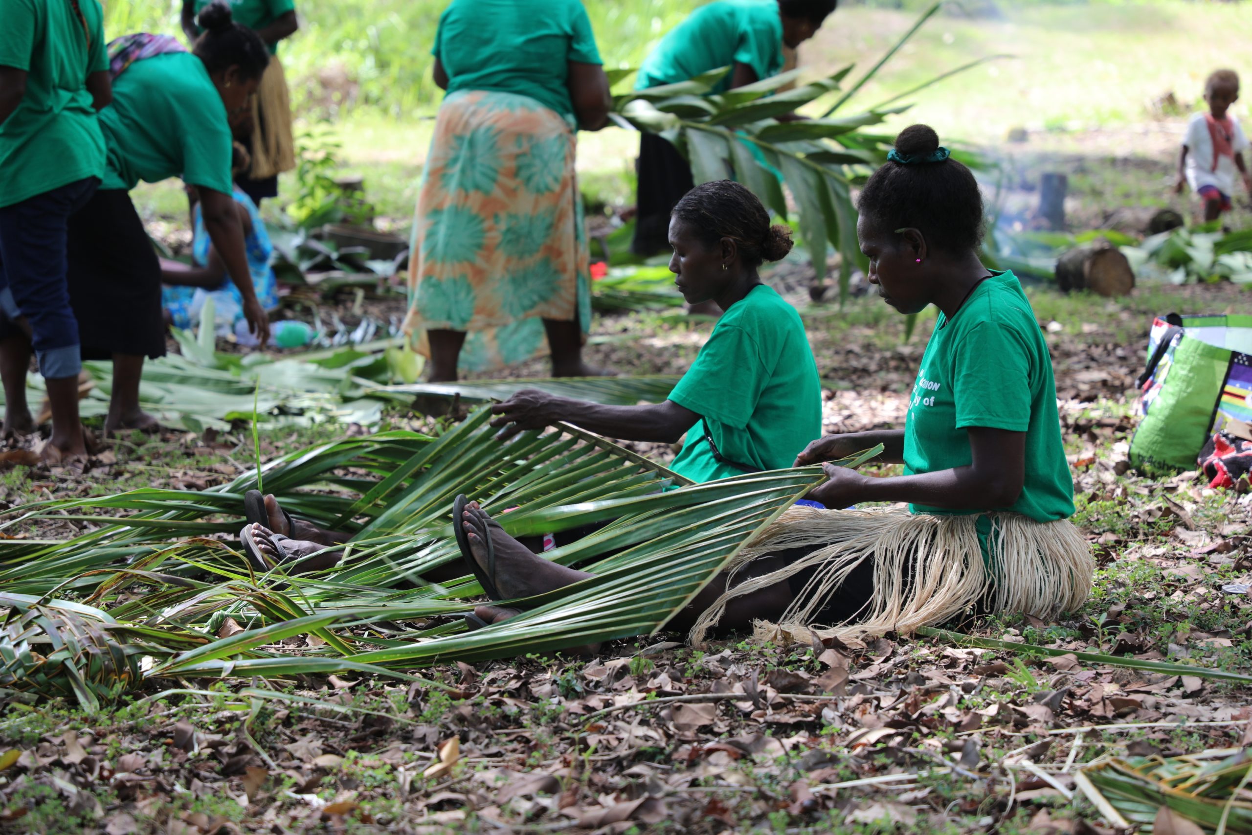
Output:
<svg viewBox="0 0 1252 835">
<path fill-rule="evenodd" d="M 777 0 L 717 0 L 691 13 L 644 59 L 636 90 L 676 84 L 720 66 L 747 64 L 757 79 L 782 69 L 782 18 Z M 731 73 L 712 89 L 730 89 Z"/>
</svg>

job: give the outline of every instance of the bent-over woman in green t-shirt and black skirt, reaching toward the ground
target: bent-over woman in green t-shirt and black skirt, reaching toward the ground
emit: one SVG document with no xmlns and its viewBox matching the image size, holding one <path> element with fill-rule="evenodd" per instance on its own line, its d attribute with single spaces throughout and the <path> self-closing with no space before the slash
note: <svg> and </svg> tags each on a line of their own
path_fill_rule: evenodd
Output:
<svg viewBox="0 0 1252 835">
<path fill-rule="evenodd" d="M 262 343 L 269 319 L 252 284 L 230 197 L 230 120 L 249 108 L 269 53 L 257 33 L 215 3 L 200 13 L 204 34 L 188 53 L 165 35 L 126 35 L 109 48 L 113 104 L 100 113 L 108 149 L 104 182 L 70 219 L 70 302 L 84 359 L 113 359 L 105 432 L 146 429 L 139 408 L 144 357 L 165 354 L 160 263 L 130 202 L 139 180 L 182 177 L 200 193 L 204 225 L 243 298 Z"/>
</svg>

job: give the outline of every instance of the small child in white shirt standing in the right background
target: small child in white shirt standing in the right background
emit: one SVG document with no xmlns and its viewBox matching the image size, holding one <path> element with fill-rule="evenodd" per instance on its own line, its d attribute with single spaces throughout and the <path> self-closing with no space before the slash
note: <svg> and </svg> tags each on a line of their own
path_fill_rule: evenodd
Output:
<svg viewBox="0 0 1252 835">
<path fill-rule="evenodd" d="M 1243 149 L 1248 139 L 1234 116 L 1232 104 L 1239 99 L 1239 76 L 1233 70 L 1214 70 L 1204 83 L 1208 113 L 1197 113 L 1187 123 L 1182 158 L 1178 160 L 1178 187 L 1184 185 L 1204 202 L 1204 220 L 1216 220 L 1231 209 L 1234 173 L 1243 178 L 1243 187 L 1252 193 L 1252 177 L 1243 165 Z"/>
</svg>

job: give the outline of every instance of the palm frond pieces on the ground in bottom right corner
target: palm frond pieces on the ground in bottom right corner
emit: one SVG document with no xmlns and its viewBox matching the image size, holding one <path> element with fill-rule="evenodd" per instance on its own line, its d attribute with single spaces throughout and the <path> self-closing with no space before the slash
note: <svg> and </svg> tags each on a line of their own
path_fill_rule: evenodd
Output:
<svg viewBox="0 0 1252 835">
<path fill-rule="evenodd" d="M 1131 824 L 1152 824 L 1168 807 L 1218 835 L 1252 835 L 1252 749 L 1106 757 L 1082 775 L 1092 800 Z"/>
</svg>

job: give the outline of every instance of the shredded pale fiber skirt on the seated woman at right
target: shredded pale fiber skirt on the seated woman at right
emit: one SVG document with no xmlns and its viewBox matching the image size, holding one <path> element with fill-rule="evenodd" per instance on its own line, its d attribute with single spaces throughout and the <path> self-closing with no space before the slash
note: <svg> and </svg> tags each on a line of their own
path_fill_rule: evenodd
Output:
<svg viewBox="0 0 1252 835">
<path fill-rule="evenodd" d="M 989 560 L 983 557 L 978 515 L 793 507 L 735 558 L 729 567 L 729 591 L 696 622 L 691 642 L 704 642 L 729 600 L 809 570 L 810 578 L 779 622 L 757 622 L 759 637 L 772 638 L 780 628 L 799 640 L 908 633 L 974 606 L 1047 620 L 1087 600 L 1096 560 L 1068 520 L 1035 522 L 1017 513 L 985 517 L 990 520 Z M 788 548 L 813 550 L 785 568 L 735 585 L 735 573 L 754 560 Z M 873 563 L 874 593 L 860 612 L 844 623 L 815 622 L 866 560 Z"/>
</svg>

